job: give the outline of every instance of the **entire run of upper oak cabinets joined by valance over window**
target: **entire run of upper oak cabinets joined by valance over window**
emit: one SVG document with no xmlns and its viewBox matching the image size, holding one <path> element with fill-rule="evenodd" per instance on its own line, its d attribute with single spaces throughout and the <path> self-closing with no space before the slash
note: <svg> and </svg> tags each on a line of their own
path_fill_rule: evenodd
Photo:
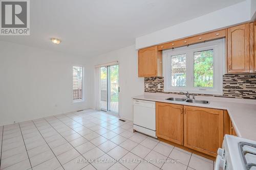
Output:
<svg viewBox="0 0 256 170">
<path fill-rule="evenodd" d="M 162 51 L 226 38 L 227 73 L 256 72 L 256 21 L 227 29 L 174 40 L 138 51 L 139 77 L 162 76 Z"/>
</svg>

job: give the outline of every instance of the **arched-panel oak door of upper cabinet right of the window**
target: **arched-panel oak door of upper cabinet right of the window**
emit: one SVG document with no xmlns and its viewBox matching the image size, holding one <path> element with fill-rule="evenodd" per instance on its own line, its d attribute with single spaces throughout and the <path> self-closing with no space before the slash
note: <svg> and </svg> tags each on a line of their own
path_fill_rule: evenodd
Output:
<svg viewBox="0 0 256 170">
<path fill-rule="evenodd" d="M 227 29 L 228 73 L 250 72 L 249 23 Z"/>
</svg>

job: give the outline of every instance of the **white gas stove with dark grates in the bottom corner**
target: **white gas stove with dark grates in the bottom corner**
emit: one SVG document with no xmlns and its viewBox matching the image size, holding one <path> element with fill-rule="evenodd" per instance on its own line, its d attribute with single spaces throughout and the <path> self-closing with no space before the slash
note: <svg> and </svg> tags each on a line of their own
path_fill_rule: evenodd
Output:
<svg viewBox="0 0 256 170">
<path fill-rule="evenodd" d="M 256 141 L 225 135 L 215 170 L 256 170 Z"/>
</svg>

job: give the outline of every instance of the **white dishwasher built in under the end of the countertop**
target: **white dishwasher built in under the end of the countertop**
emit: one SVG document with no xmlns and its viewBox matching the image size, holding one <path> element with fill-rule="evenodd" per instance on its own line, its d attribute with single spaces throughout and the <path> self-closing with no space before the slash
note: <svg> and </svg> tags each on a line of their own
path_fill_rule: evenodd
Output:
<svg viewBox="0 0 256 170">
<path fill-rule="evenodd" d="M 156 102 L 133 100 L 133 129 L 157 138 Z"/>
</svg>

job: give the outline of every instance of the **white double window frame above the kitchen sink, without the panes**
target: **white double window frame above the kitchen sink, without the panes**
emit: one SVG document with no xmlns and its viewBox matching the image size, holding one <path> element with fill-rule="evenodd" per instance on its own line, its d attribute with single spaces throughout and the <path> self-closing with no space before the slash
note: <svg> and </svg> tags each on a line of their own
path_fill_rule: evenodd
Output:
<svg viewBox="0 0 256 170">
<path fill-rule="evenodd" d="M 194 87 L 194 53 L 214 50 L 214 87 Z M 172 86 L 171 56 L 186 54 L 186 86 Z M 221 57 L 216 57 L 221 56 Z M 163 51 L 164 92 L 185 92 L 198 94 L 223 94 L 225 74 L 225 39 L 218 39 Z"/>
</svg>

